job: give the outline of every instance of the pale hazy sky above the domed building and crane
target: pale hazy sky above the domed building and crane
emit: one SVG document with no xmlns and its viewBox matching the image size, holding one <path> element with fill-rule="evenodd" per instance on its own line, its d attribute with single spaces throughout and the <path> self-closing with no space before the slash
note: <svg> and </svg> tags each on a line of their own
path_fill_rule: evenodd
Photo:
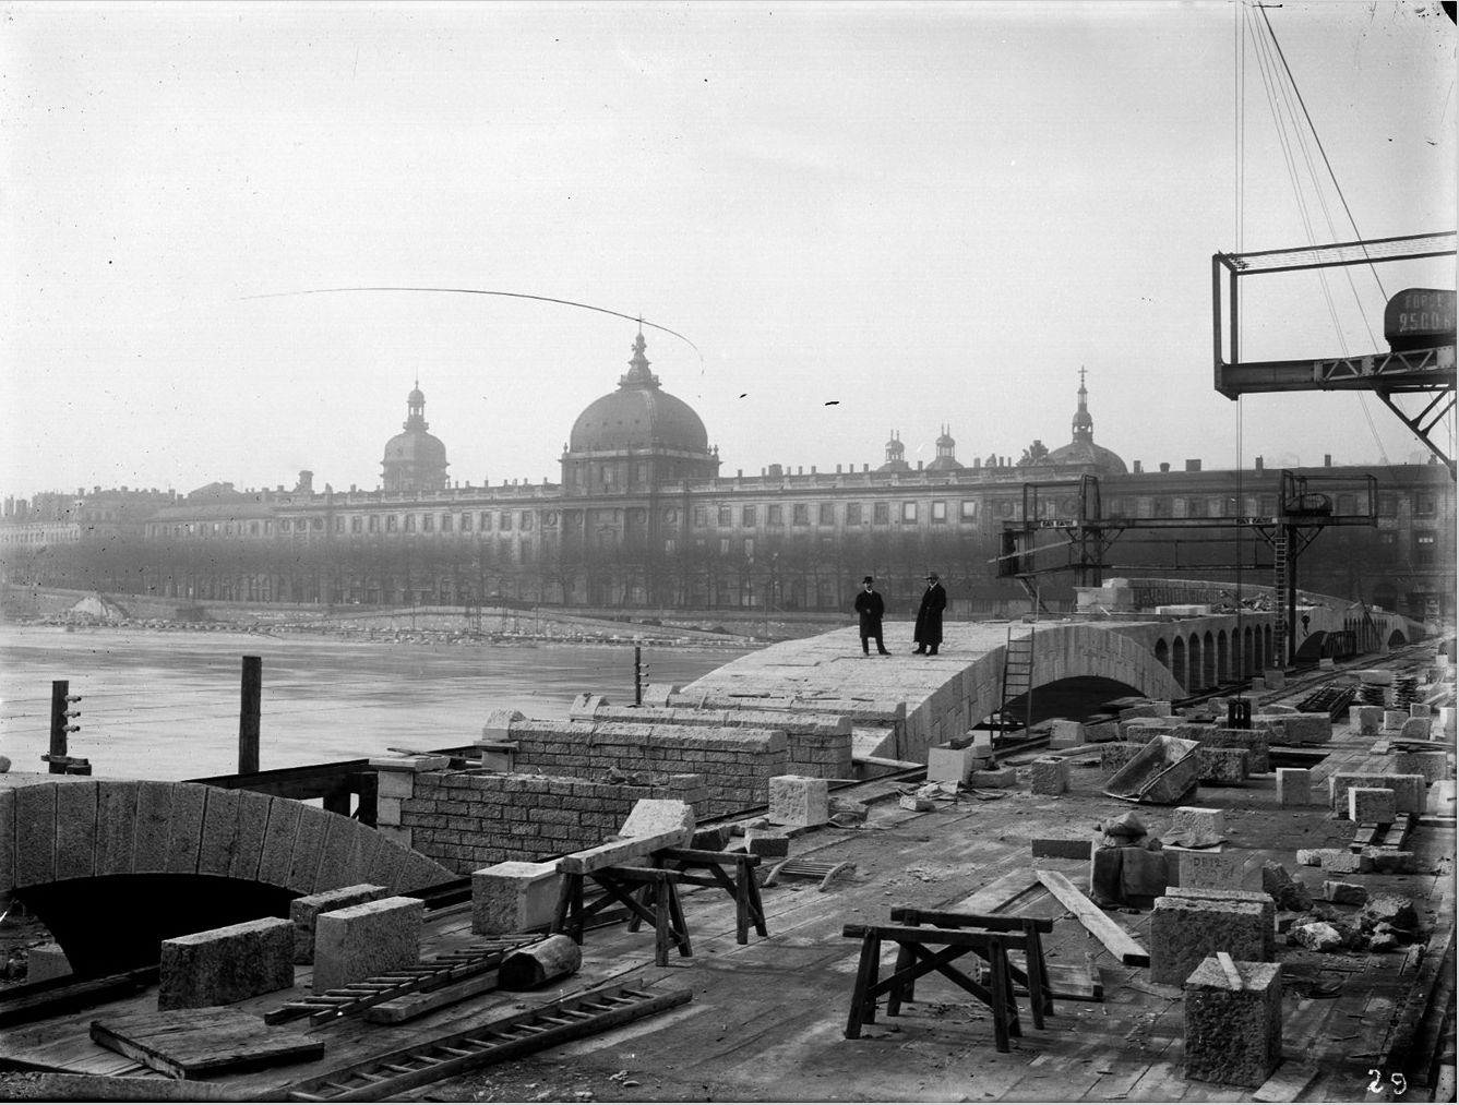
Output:
<svg viewBox="0 0 1459 1105">
<path fill-rule="evenodd" d="M 1147 468 L 1428 456 L 1373 397 L 1218 395 L 1211 257 L 1455 227 L 1433 0 L 0 12 L 0 494 L 375 488 L 417 379 L 452 480 L 557 481 L 638 316 L 724 475 L 1056 448 L 1081 367 Z M 1245 278 L 1243 354 L 1455 287 L 1374 271 Z M 600 311 L 321 292 L 378 287 Z"/>
</svg>

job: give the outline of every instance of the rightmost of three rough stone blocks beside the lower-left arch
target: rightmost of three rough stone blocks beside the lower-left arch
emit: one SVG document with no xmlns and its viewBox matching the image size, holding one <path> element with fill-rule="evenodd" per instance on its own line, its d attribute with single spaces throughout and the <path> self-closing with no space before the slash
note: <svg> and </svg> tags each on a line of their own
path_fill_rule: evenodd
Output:
<svg viewBox="0 0 1459 1105">
<path fill-rule="evenodd" d="M 321 913 L 314 924 L 314 993 L 337 990 L 420 961 L 419 898 L 381 898 Z M 293 953 L 293 926 L 289 926 Z"/>
</svg>

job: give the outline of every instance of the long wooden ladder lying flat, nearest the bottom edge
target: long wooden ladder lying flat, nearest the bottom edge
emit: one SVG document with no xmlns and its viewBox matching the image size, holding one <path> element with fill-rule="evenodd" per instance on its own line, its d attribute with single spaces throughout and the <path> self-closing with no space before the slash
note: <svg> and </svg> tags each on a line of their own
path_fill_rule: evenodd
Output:
<svg viewBox="0 0 1459 1105">
<path fill-rule="evenodd" d="M 268 1099 L 384 1101 L 467 1070 L 617 1028 L 681 1006 L 690 997 L 689 990 L 654 991 L 623 984 L 587 990 L 464 1032 L 452 1032 L 289 1083 Z"/>
</svg>

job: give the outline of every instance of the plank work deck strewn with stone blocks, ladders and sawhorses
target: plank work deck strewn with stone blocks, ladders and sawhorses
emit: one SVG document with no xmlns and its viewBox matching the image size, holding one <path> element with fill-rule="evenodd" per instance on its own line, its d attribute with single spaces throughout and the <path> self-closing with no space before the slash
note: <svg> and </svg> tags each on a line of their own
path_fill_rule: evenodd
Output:
<svg viewBox="0 0 1459 1105">
<path fill-rule="evenodd" d="M 1336 770 L 1382 768 L 1385 758 L 1373 757 L 1371 745 L 1373 738 L 1339 726 L 1331 755 L 1315 771 L 1316 781 Z M 645 1071 L 635 1073 L 643 1083 L 643 1099 L 668 1099 L 654 1095 L 654 1074 L 646 1073 L 659 1071 L 665 1085 L 693 1077 L 730 1086 L 743 1101 L 1250 1101 L 1249 1088 L 1183 1077 L 1182 991 L 1151 984 L 1147 968 L 1122 965 L 1033 878 L 1033 837 L 1087 835 L 1096 822 L 1129 809 L 1157 835 L 1169 825 L 1167 808 L 1132 808 L 1100 794 L 1097 761 L 1097 746 L 1088 755 L 1071 755 L 1072 792 L 1058 797 L 1023 789 L 996 800 L 940 802 L 924 813 L 877 802 L 864 827 L 797 835 L 797 856 L 830 864 L 851 862 L 855 873 L 837 878 L 824 892 L 814 881 L 766 888 L 769 937 L 751 936 L 747 945 L 737 945 L 728 895 L 692 889 L 684 895 L 694 948 L 690 959 L 676 956 L 667 968 L 655 968 L 651 932 L 629 933 L 623 926 L 594 930 L 585 940 L 582 971 L 541 996 L 486 993 L 404 1025 L 352 1019 L 309 1034 L 325 1044 L 317 1063 L 219 1077 L 212 1085 L 233 1099 L 267 1099 L 286 1082 L 464 1029 L 527 1001 L 641 977 L 689 985 L 693 1000 L 519 1063 L 540 1070 L 544 1085 L 565 1055 L 579 1067 L 603 1070 L 604 1077 L 632 1066 Z M 1325 794 L 1326 787 L 1315 786 L 1313 792 Z M 1334 819 L 1325 806 L 1278 806 L 1271 776 L 1243 786 L 1202 787 L 1193 805 L 1226 811 L 1226 848 L 1243 857 L 1250 889 L 1261 886 L 1262 863 L 1277 860 L 1320 894 L 1322 873 L 1299 867 L 1296 848 L 1347 848 L 1354 832 L 1352 822 Z M 1287 1082 L 1296 1085 L 1304 1067 L 1312 1069 L 1312 1077 L 1294 1089 L 1274 1085 L 1265 1099 L 1363 1101 L 1370 1070 L 1386 1071 L 1405 1025 L 1412 1031 L 1415 1003 L 1421 1004 L 1434 984 L 1434 956 L 1443 955 L 1453 929 L 1453 827 L 1420 824 L 1409 846 L 1424 875 L 1342 878 L 1364 883 L 1370 892 L 1411 897 L 1431 932 L 1425 945 L 1385 955 L 1319 955 L 1278 940 Z M 1037 866 L 1087 886 L 1087 862 L 1039 859 Z M 1013 1050 L 998 1054 L 989 1010 L 951 983 L 928 977 L 900 1016 L 880 1016 L 859 1039 L 845 1039 L 859 946 L 842 936 L 842 926 L 884 924 L 894 905 L 935 910 L 969 904 L 1053 918 L 1043 943 L 1049 965 L 1075 969 L 1093 962 L 1104 1000 L 1058 1001 L 1045 1029 L 1029 1028 L 1026 1019 Z M 1110 915 L 1150 946 L 1148 911 Z M 468 907 L 439 911 L 427 921 L 427 950 L 461 948 L 470 940 Z M 896 948 L 886 955 L 890 968 Z M 308 983 L 309 971 L 299 968 L 292 991 L 238 1007 L 261 1015 L 308 993 Z M 1320 996 L 1329 988 L 1332 996 Z M 107 1015 L 118 1016 L 155 1009 L 155 988 L 105 1006 Z M 76 1073 L 156 1077 L 92 1042 L 88 1029 L 98 1015 L 88 1010 L 7 1031 L 0 1055 Z M 624 1090 L 620 1099 L 632 1099 L 630 1093 Z M 436 1096 L 458 1099 L 448 1086 Z M 1411 1092 L 1404 1099 L 1423 1098 Z"/>
</svg>

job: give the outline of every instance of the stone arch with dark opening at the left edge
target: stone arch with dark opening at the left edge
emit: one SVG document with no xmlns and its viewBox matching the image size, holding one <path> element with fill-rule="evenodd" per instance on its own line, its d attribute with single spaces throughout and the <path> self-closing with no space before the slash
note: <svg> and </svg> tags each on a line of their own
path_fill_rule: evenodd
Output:
<svg viewBox="0 0 1459 1105">
<path fill-rule="evenodd" d="M 77 974 L 158 961 L 158 943 L 372 882 L 455 879 L 357 821 L 200 783 L 0 774 L 0 897 L 51 930 Z"/>
</svg>

